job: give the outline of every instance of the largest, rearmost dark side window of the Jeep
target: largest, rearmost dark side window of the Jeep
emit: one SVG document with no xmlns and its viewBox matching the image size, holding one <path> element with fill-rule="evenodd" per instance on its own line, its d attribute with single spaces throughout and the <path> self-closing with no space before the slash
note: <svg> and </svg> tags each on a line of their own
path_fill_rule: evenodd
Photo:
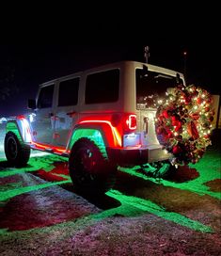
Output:
<svg viewBox="0 0 221 256">
<path fill-rule="evenodd" d="M 86 82 L 86 104 L 118 101 L 119 70 L 89 74 Z"/>
</svg>

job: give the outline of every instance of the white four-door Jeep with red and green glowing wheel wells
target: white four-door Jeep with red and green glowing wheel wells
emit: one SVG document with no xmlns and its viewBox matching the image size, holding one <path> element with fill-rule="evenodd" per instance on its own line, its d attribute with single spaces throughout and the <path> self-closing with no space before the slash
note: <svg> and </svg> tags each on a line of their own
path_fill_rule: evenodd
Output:
<svg viewBox="0 0 221 256">
<path fill-rule="evenodd" d="M 8 162 L 24 166 L 30 149 L 67 156 L 77 190 L 104 192 L 118 166 L 171 156 L 155 134 L 153 99 L 160 101 L 166 88 L 181 82 L 182 73 L 122 61 L 44 83 L 36 100 L 28 101 L 30 113 L 8 121 Z"/>
</svg>

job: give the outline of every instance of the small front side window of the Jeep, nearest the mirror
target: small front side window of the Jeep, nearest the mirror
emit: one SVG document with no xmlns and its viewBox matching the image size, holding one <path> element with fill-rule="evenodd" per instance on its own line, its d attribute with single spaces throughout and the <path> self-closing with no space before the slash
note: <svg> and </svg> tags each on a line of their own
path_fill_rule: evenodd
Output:
<svg viewBox="0 0 221 256">
<path fill-rule="evenodd" d="M 40 89 L 38 108 L 52 107 L 53 104 L 53 93 L 55 85 L 50 85 Z"/>
</svg>

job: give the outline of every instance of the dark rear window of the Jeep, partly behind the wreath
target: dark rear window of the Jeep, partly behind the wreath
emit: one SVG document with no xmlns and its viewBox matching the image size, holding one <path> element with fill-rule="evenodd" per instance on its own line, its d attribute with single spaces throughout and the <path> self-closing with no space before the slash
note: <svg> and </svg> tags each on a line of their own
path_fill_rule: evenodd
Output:
<svg viewBox="0 0 221 256">
<path fill-rule="evenodd" d="M 179 77 L 160 72 L 150 72 L 141 69 L 135 71 L 136 108 L 154 108 L 161 103 L 167 88 L 181 84 Z"/>
</svg>

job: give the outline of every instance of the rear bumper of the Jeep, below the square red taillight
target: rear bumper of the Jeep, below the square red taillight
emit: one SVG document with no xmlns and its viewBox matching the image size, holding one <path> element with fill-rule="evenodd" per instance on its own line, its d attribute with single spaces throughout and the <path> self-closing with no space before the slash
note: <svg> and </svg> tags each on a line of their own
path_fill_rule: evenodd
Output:
<svg viewBox="0 0 221 256">
<path fill-rule="evenodd" d="M 147 148 L 117 148 L 107 149 L 111 161 L 118 165 L 142 165 L 157 161 L 164 161 L 171 157 L 160 145 L 153 145 Z"/>
</svg>

